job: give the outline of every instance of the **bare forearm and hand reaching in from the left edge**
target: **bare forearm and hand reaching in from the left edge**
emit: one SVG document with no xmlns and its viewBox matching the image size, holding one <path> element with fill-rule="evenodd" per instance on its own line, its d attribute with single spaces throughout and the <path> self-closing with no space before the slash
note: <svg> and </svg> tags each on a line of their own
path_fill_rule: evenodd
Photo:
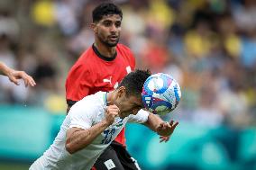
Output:
<svg viewBox="0 0 256 170">
<path fill-rule="evenodd" d="M 19 85 L 18 79 L 23 79 L 25 86 L 36 85 L 32 76 L 27 75 L 24 71 L 18 71 L 7 67 L 2 62 L 0 62 L 0 73 L 1 75 L 8 76 L 10 81 L 13 82 L 15 85 Z"/>
</svg>

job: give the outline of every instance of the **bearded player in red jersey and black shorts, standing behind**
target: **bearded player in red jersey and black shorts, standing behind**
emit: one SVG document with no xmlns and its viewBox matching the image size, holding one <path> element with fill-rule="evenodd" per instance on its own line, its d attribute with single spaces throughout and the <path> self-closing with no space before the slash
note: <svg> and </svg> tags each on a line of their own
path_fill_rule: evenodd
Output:
<svg viewBox="0 0 256 170">
<path fill-rule="evenodd" d="M 123 77 L 134 70 L 132 51 L 118 43 L 122 19 L 123 13 L 115 4 L 100 4 L 94 9 L 91 27 L 95 33 L 95 42 L 78 58 L 67 77 L 68 112 L 74 103 L 89 94 L 114 90 Z M 178 122 L 171 121 L 170 125 L 176 127 Z M 169 140 L 160 138 L 161 141 Z M 125 148 L 124 130 L 97 159 L 93 169 L 140 169 Z"/>
</svg>

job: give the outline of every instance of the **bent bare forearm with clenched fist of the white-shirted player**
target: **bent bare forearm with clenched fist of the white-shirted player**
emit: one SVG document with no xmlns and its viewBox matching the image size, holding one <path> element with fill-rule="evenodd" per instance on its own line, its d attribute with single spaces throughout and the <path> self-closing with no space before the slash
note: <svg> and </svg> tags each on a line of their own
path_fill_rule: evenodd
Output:
<svg viewBox="0 0 256 170">
<path fill-rule="evenodd" d="M 70 128 L 67 131 L 66 149 L 70 154 L 76 153 L 82 148 L 86 148 L 96 137 L 114 122 L 119 109 L 116 105 L 110 105 L 105 111 L 105 119 L 91 128 L 84 130 L 80 128 Z"/>
</svg>

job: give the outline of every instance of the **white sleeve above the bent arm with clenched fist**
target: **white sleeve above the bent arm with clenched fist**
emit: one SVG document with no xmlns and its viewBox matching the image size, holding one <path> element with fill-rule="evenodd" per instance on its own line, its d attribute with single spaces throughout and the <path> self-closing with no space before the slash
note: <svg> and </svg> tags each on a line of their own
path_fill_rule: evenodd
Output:
<svg viewBox="0 0 256 170">
<path fill-rule="evenodd" d="M 96 117 L 96 112 L 90 105 L 87 98 L 75 103 L 69 111 L 70 125 L 69 128 L 82 128 L 84 130 L 92 127 L 94 119 Z"/>
</svg>

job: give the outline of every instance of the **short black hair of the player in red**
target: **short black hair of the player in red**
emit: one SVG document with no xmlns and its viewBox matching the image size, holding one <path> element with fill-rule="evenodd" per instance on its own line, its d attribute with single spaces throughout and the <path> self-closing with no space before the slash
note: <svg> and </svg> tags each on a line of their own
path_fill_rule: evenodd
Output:
<svg viewBox="0 0 256 170">
<path fill-rule="evenodd" d="M 113 3 L 103 3 L 96 6 L 93 11 L 93 22 L 99 22 L 103 16 L 108 14 L 118 14 L 123 19 L 122 10 Z"/>
</svg>

